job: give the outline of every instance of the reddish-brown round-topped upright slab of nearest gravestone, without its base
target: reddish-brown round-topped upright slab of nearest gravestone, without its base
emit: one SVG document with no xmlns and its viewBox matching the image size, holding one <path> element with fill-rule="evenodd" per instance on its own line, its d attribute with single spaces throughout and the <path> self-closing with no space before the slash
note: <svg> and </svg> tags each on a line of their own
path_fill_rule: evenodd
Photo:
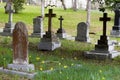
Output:
<svg viewBox="0 0 120 80">
<path fill-rule="evenodd" d="M 28 64 L 28 31 L 23 22 L 18 22 L 13 30 L 13 63 Z"/>
</svg>

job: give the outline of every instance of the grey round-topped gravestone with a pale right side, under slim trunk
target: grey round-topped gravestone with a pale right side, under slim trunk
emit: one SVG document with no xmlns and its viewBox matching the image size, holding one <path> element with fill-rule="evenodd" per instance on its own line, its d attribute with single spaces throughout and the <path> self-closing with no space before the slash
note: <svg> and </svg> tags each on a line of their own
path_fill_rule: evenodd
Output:
<svg viewBox="0 0 120 80">
<path fill-rule="evenodd" d="M 89 38 L 89 27 L 85 22 L 81 22 L 77 25 L 77 36 L 76 41 L 90 42 Z"/>
</svg>

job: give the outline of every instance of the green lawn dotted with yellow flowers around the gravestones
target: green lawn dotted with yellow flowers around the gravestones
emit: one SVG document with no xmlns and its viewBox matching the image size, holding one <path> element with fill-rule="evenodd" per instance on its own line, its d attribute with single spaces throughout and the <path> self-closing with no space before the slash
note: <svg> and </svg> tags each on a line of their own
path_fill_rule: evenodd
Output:
<svg viewBox="0 0 120 80">
<path fill-rule="evenodd" d="M 2 4 L 4 6 L 4 4 Z M 14 14 L 13 22 L 23 21 L 28 26 L 29 34 L 32 33 L 32 19 L 40 15 L 39 6 L 25 6 L 19 14 Z M 48 9 L 45 10 L 45 13 Z M 71 9 L 54 8 L 57 18 L 53 19 L 53 31 L 59 27 L 58 18 L 60 15 L 65 19 L 63 27 L 68 34 L 75 36 L 76 28 L 79 22 L 86 21 L 86 11 L 79 10 L 74 12 Z M 108 11 L 111 21 L 108 22 L 107 34 L 113 26 L 113 12 Z M 102 22 L 99 17 L 101 12 L 91 11 L 90 34 L 92 43 L 95 43 L 102 33 Z M 0 7 L 0 28 L 8 20 L 8 15 L 4 14 L 4 8 Z M 47 30 L 47 18 L 44 21 L 44 30 Z M 115 39 L 115 38 L 113 38 Z M 119 41 L 119 38 L 116 40 Z M 38 51 L 37 45 L 39 38 L 29 38 L 29 62 L 35 64 L 35 72 L 38 72 L 35 80 L 119 80 L 120 78 L 120 57 L 114 60 L 90 60 L 82 56 L 84 51 L 94 49 L 94 44 L 61 40 L 62 46 L 54 51 Z M 11 37 L 0 36 L 0 66 L 6 67 L 12 63 L 12 39 Z M 83 47 L 84 46 L 84 47 Z M 119 47 L 116 47 L 119 50 Z M 50 70 L 50 72 L 45 72 Z M 0 80 L 28 80 L 17 75 L 6 75 L 0 73 Z"/>
</svg>

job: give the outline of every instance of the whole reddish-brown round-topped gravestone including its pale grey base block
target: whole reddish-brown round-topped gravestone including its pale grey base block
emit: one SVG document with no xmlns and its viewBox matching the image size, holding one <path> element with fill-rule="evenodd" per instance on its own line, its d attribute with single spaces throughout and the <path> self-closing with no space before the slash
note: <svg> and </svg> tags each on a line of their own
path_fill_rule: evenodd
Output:
<svg viewBox="0 0 120 80">
<path fill-rule="evenodd" d="M 34 65 L 28 61 L 28 31 L 23 22 L 18 22 L 13 30 L 13 64 L 8 69 L 29 72 Z"/>
</svg>

